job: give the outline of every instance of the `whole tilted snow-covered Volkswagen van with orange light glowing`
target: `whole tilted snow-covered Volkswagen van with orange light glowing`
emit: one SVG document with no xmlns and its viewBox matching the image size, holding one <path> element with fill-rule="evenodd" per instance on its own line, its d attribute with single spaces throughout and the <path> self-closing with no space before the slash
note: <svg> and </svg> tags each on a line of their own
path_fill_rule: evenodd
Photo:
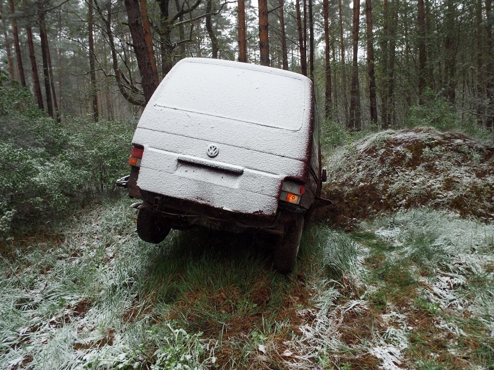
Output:
<svg viewBox="0 0 494 370">
<path fill-rule="evenodd" d="M 166 75 L 132 140 L 126 185 L 137 233 L 162 242 L 193 225 L 273 240 L 290 272 L 304 222 L 320 200 L 319 126 L 312 82 L 252 64 L 187 58 Z M 123 181 L 125 183 L 125 180 Z"/>
</svg>

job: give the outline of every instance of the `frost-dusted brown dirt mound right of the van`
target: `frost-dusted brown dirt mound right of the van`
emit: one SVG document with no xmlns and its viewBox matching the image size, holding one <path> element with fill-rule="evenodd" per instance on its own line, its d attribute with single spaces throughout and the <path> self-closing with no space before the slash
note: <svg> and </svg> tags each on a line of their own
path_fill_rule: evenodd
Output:
<svg viewBox="0 0 494 370">
<path fill-rule="evenodd" d="M 494 220 L 494 147 L 433 128 L 381 131 L 328 161 L 321 216 L 352 228 L 400 208 L 432 206 L 462 217 Z"/>
</svg>

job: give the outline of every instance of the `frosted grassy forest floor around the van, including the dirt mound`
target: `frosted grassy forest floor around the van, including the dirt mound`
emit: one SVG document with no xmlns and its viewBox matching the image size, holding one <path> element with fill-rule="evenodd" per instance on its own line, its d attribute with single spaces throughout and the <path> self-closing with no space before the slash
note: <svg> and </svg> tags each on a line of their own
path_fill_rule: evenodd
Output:
<svg viewBox="0 0 494 370">
<path fill-rule="evenodd" d="M 139 241 L 128 199 L 14 239 L 0 368 L 494 369 L 492 153 L 429 129 L 336 153 L 326 194 L 345 201 L 289 276 L 245 236 Z M 409 196 L 425 191 L 436 200 Z"/>
</svg>

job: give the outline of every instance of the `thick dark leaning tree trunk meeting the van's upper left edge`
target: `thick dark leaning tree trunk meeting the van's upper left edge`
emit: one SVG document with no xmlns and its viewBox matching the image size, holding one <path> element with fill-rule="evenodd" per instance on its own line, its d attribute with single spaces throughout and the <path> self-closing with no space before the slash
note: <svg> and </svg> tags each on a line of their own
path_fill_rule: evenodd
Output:
<svg viewBox="0 0 494 370">
<path fill-rule="evenodd" d="M 132 37 L 132 43 L 137 59 L 137 66 L 141 74 L 144 100 L 147 104 L 157 86 L 153 74 L 153 68 L 151 67 L 151 61 L 149 60 L 148 48 L 146 47 L 146 41 L 144 39 L 139 2 L 138 0 L 124 0 L 124 2 L 128 15 L 130 36 Z"/>
</svg>

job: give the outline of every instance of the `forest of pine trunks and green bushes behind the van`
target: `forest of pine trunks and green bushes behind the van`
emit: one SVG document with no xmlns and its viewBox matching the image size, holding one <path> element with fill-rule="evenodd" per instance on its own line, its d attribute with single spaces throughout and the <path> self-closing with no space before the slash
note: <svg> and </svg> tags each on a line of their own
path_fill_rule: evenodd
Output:
<svg viewBox="0 0 494 370">
<path fill-rule="evenodd" d="M 124 175 L 135 124 L 184 57 L 315 84 L 327 148 L 432 125 L 492 138 L 492 0 L 0 2 L 0 233 Z"/>
</svg>

